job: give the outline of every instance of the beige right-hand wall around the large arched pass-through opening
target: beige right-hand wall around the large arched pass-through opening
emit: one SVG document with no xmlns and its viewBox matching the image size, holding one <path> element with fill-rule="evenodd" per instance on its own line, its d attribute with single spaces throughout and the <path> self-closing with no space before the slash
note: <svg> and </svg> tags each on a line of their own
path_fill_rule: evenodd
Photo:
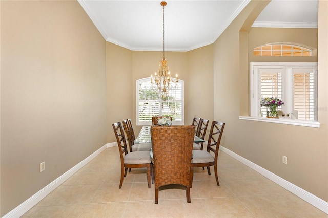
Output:
<svg viewBox="0 0 328 218">
<path fill-rule="evenodd" d="M 252 41 L 249 36 L 257 31 L 247 29 L 243 25 L 249 22 L 250 17 L 254 17 L 254 13 L 258 13 L 259 8 L 263 7 L 262 4 L 261 1 L 251 1 L 214 43 L 214 82 L 222 84 L 218 87 L 214 86 L 214 92 L 219 93 L 214 96 L 214 119 L 227 123 L 221 144 L 279 177 L 328 201 L 327 2 L 319 1 L 320 128 L 238 119 L 239 116 L 248 114 L 248 100 L 245 101 L 249 99 L 248 62 L 253 58 L 245 56 L 248 54 L 245 49 L 248 48 L 248 39 Z M 239 32 L 241 28 L 243 32 Z M 251 30 L 249 34 L 247 30 Z M 268 31 L 273 30 L 268 29 Z M 298 34 L 298 31 L 285 30 L 292 34 Z M 311 30 L 309 36 L 315 37 L 315 35 L 315 31 Z M 281 36 L 280 39 L 288 41 L 293 38 L 288 34 L 285 37 Z M 269 42 L 270 39 L 265 40 Z M 263 42 L 264 40 L 258 42 L 258 45 Z M 316 42 L 309 39 L 309 43 L 315 45 Z M 282 164 L 282 155 L 288 157 L 288 165 Z"/>
</svg>

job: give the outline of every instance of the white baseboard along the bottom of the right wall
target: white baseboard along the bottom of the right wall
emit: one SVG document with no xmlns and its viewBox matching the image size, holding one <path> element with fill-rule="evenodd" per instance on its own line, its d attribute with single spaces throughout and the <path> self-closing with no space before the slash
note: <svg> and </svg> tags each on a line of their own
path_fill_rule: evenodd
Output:
<svg viewBox="0 0 328 218">
<path fill-rule="evenodd" d="M 274 173 L 256 165 L 255 163 L 237 155 L 236 153 L 234 153 L 233 151 L 223 147 L 220 145 L 220 150 L 222 150 L 224 153 L 228 154 L 229 156 L 235 158 L 236 160 L 240 161 L 241 163 L 249 166 L 250 168 L 254 169 L 255 171 L 257 171 L 258 173 L 260 173 L 261 175 L 263 175 L 264 177 L 267 177 L 268 179 L 270 179 L 271 181 L 277 183 L 278 185 L 280 185 L 281 187 L 289 190 L 290 192 L 292 192 L 293 194 L 297 195 L 299 198 L 303 199 L 304 201 L 312 204 L 313 206 L 315 206 L 316 208 L 322 210 L 323 212 L 328 214 L 328 202 L 323 201 L 322 199 L 316 197 L 314 194 L 294 185 L 291 182 L 286 181 L 285 179 L 278 177 L 277 175 L 275 175 Z"/>
</svg>

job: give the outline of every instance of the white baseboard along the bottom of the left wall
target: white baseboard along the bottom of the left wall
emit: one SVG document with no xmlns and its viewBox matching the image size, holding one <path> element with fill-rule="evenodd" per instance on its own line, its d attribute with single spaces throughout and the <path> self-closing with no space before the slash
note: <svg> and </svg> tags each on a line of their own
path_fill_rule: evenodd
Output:
<svg viewBox="0 0 328 218">
<path fill-rule="evenodd" d="M 117 142 L 116 142 L 117 145 Z M 18 218 L 22 216 L 24 213 L 26 213 L 28 210 L 30 210 L 34 205 L 36 205 L 39 201 L 41 201 L 43 198 L 45 198 L 51 191 L 53 191 L 55 188 L 57 188 L 59 185 L 61 185 L 63 182 L 65 182 L 68 178 L 70 178 L 75 172 L 77 172 L 79 169 L 81 169 L 83 166 L 85 166 L 87 163 L 89 163 L 93 158 L 95 158 L 97 155 L 100 154 L 101 151 L 105 150 L 107 147 L 113 147 L 115 146 L 115 143 L 108 143 L 104 145 L 103 147 L 100 147 L 98 150 L 93 152 L 89 157 L 84 159 L 83 161 L 76 164 L 73 168 L 65 172 L 63 175 L 52 181 L 50 184 L 48 184 L 43 189 L 36 192 L 34 195 L 32 195 L 29 199 L 27 199 L 22 204 L 18 205 L 16 208 L 11 210 L 9 213 L 3 216 L 3 218 L 7 217 L 13 217 Z"/>
</svg>

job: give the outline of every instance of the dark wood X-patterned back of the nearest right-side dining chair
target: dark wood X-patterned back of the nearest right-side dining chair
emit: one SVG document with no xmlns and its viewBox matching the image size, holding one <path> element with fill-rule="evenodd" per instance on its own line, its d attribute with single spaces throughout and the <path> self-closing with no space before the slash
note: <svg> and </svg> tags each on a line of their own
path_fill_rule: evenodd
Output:
<svg viewBox="0 0 328 218">
<path fill-rule="evenodd" d="M 224 125 L 226 125 L 226 123 L 212 121 L 209 140 L 207 144 L 207 151 L 214 152 L 215 160 L 217 160 Z"/>
</svg>

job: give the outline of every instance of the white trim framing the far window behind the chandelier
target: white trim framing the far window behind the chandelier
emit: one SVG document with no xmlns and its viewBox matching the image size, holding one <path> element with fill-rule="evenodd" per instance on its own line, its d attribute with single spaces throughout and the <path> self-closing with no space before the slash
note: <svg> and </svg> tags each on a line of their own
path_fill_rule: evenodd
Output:
<svg viewBox="0 0 328 218">
<path fill-rule="evenodd" d="M 146 77 L 146 78 L 141 78 L 138 79 L 136 81 L 136 125 L 137 126 L 151 126 L 152 125 L 152 121 L 144 121 L 144 122 L 140 122 L 138 119 L 138 93 L 139 93 L 139 86 L 138 86 L 138 82 L 141 80 L 151 80 L 151 77 Z M 172 121 L 172 125 L 185 125 L 185 81 L 178 79 L 179 83 L 181 84 L 181 89 L 182 89 L 182 99 L 181 99 L 181 121 Z M 161 115 L 159 115 L 161 116 Z"/>
</svg>

